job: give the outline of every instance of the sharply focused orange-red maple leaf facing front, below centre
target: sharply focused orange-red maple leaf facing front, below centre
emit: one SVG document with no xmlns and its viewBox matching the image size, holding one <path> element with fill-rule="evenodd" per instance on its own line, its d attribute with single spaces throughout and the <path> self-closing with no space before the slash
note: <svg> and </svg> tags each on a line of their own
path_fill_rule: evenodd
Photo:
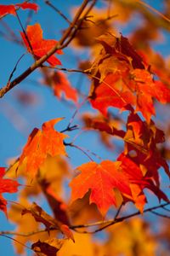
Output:
<svg viewBox="0 0 170 256">
<path fill-rule="evenodd" d="M 113 189 L 119 189 L 122 194 L 132 196 L 129 181 L 122 172 L 121 162 L 104 160 L 99 165 L 89 162 L 77 167 L 81 172 L 73 178 L 71 186 L 71 201 L 82 198 L 91 189 L 90 203 L 95 203 L 102 215 L 111 205 L 116 206 L 116 195 Z"/>
</svg>

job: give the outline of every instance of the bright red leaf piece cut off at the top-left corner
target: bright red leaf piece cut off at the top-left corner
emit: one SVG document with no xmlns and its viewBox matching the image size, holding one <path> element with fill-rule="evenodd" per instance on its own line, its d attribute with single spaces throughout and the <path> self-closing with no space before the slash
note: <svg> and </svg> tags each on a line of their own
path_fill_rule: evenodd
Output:
<svg viewBox="0 0 170 256">
<path fill-rule="evenodd" d="M 37 12 L 37 3 L 16 3 L 16 4 L 0 4 L 0 18 L 4 15 L 16 15 L 17 8 L 32 9 Z"/>
</svg>

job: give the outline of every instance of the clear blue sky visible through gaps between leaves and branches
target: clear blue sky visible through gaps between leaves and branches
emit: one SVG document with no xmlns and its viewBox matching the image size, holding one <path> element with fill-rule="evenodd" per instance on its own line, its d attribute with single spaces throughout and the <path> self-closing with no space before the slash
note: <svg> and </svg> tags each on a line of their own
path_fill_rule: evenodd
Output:
<svg viewBox="0 0 170 256">
<path fill-rule="evenodd" d="M 2 1 L 0 4 L 10 4 L 10 3 L 21 3 L 21 1 Z M 36 15 L 33 15 L 31 24 L 36 22 L 40 23 L 43 29 L 44 38 L 54 38 L 59 39 L 61 33 L 67 27 L 65 20 L 63 20 L 59 15 L 56 15 L 54 10 L 47 7 L 43 1 L 37 1 L 41 3 L 41 9 Z M 52 1 L 56 4 L 59 9 L 65 13 L 67 17 L 71 19 L 71 7 L 79 6 L 82 1 Z M 159 11 L 163 9 L 162 1 L 145 1 L 149 3 L 152 7 L 155 7 Z M 99 6 L 101 6 L 101 1 L 99 1 Z M 27 11 L 20 11 L 20 20 L 23 24 L 26 23 Z M 20 32 L 20 25 L 16 17 L 13 15 L 8 15 L 4 19 L 8 24 L 10 29 L 16 34 Z M 136 26 L 134 20 L 127 26 L 119 26 L 120 32 L 124 36 L 127 36 L 130 31 Z M 4 29 L 4 24 L 0 23 L 0 32 Z M 161 55 L 169 55 L 169 45 L 170 37 L 167 32 L 163 32 L 164 40 L 154 44 L 153 47 L 161 53 Z M 90 35 L 89 35 L 90 36 Z M 0 87 L 5 85 L 8 81 L 8 76 L 14 68 L 16 61 L 19 60 L 23 53 L 26 53 L 26 48 L 14 44 L 8 40 L 5 40 L 3 36 L 0 37 L 0 55 L 1 55 L 1 65 L 0 65 Z M 59 60 L 63 63 L 63 67 L 67 68 L 77 68 L 78 60 L 87 59 L 89 55 L 88 50 L 78 50 L 71 51 L 71 49 L 64 49 L 64 55 L 59 55 Z M 14 78 L 20 73 L 30 67 L 33 62 L 30 55 L 25 55 L 20 61 L 16 72 L 14 73 Z M 88 90 L 87 79 L 83 79 L 81 74 L 68 74 L 68 78 L 73 86 L 84 87 Z M 63 121 L 56 125 L 56 129 L 61 131 L 65 129 L 68 125 L 72 114 L 76 110 L 76 106 L 71 104 L 71 102 L 59 102 L 56 97 L 53 96 L 53 92 L 49 90 L 48 87 L 41 84 L 41 73 L 32 73 L 25 81 L 17 85 L 14 90 L 10 90 L 7 95 L 0 99 L 0 166 L 8 166 L 8 160 L 20 155 L 23 146 L 26 143 L 27 137 L 31 133 L 34 127 L 40 128 L 42 123 L 57 117 L 65 117 Z M 21 93 L 27 92 L 31 96 L 31 100 L 35 103 L 33 104 L 21 104 L 18 101 L 18 97 Z M 91 111 L 88 108 L 88 104 L 85 104 L 81 111 Z M 117 113 L 117 112 L 116 112 Z M 167 117 L 162 116 L 162 118 L 167 119 Z M 75 120 L 76 121 L 76 120 Z M 72 132 L 76 135 L 77 132 Z M 96 154 L 102 156 L 103 159 L 113 158 L 111 152 L 103 149 L 99 144 L 99 136 L 94 134 L 94 132 L 89 132 L 89 135 L 81 136 L 77 140 L 78 145 L 82 145 L 84 148 L 88 148 L 90 143 L 90 150 L 94 151 Z M 83 162 L 87 162 L 88 159 L 77 149 L 67 150 L 70 158 L 71 165 L 76 167 L 81 165 Z M 155 201 L 154 199 L 154 202 Z M 3 212 L 0 212 L 0 230 L 13 229 L 13 226 L 8 225 L 8 220 L 4 217 Z M 8 238 L 0 236 L 0 254 L 3 255 L 15 255 L 13 248 L 9 246 L 10 241 Z"/>
</svg>

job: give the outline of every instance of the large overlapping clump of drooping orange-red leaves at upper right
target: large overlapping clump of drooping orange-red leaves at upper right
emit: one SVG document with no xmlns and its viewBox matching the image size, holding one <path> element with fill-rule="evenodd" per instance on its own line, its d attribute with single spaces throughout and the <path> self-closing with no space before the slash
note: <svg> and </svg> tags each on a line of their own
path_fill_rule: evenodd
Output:
<svg viewBox="0 0 170 256">
<path fill-rule="evenodd" d="M 162 104 L 170 102 L 169 88 L 144 69 L 142 58 L 127 38 L 106 34 L 98 40 L 103 49 L 91 67 L 92 106 L 107 116 L 110 107 L 127 110 L 132 105 L 150 123 L 155 115 L 154 99 Z"/>
</svg>

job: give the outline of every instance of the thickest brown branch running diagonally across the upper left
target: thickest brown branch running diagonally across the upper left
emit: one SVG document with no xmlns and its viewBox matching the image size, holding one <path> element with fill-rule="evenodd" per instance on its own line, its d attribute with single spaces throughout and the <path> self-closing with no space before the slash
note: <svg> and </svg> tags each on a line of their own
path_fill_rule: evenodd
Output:
<svg viewBox="0 0 170 256">
<path fill-rule="evenodd" d="M 20 84 L 21 81 L 26 79 L 33 71 L 37 69 L 37 67 L 41 67 L 42 63 L 48 60 L 48 57 L 51 55 L 54 55 L 57 49 L 64 49 L 68 44 L 71 43 L 71 40 L 75 37 L 78 29 L 82 25 L 82 20 L 86 18 L 88 15 L 88 12 L 93 8 L 94 4 L 97 2 L 97 0 L 92 1 L 91 5 L 85 12 L 85 14 L 82 16 L 81 20 L 80 17 L 82 13 L 84 12 L 84 9 L 86 9 L 88 3 L 91 2 L 90 0 L 84 0 L 82 3 L 82 6 L 77 11 L 77 15 L 73 19 L 71 25 L 67 28 L 62 38 L 59 40 L 58 44 L 54 46 L 54 48 L 50 49 L 46 55 L 43 55 L 42 58 L 35 61 L 31 67 L 27 68 L 24 73 L 21 73 L 19 77 L 11 81 L 10 83 L 6 84 L 1 90 L 0 90 L 0 97 L 3 97 L 4 94 L 8 92 L 8 90 L 11 90 L 16 86 L 17 84 Z M 66 41 L 66 42 L 65 42 Z"/>
</svg>

